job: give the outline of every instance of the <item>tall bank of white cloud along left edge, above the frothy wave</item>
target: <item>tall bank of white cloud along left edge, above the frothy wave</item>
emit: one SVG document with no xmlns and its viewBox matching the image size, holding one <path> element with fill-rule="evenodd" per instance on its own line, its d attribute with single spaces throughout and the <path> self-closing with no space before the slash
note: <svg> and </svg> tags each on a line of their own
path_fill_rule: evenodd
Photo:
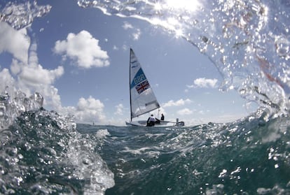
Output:
<svg viewBox="0 0 290 195">
<path fill-rule="evenodd" d="M 44 98 L 44 106 L 57 110 L 61 103 L 53 82 L 64 73 L 64 69 L 62 66 L 55 70 L 43 68 L 38 62 L 36 43 L 30 44 L 25 28 L 16 31 L 0 22 L 0 53 L 6 51 L 13 55 L 11 72 L 8 69 L 1 71 L 1 92 L 6 86 L 9 86 L 11 95 L 14 89 L 20 89 L 27 96 L 39 92 Z"/>
</svg>

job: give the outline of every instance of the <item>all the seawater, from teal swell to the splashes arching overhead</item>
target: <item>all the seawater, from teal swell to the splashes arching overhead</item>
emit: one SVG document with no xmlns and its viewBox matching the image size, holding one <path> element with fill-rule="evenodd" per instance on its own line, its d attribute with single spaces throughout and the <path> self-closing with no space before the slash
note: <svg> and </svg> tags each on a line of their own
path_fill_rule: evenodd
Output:
<svg viewBox="0 0 290 195">
<path fill-rule="evenodd" d="M 0 194 L 290 194 L 290 1 L 188 2 L 76 1 L 179 34 L 218 68 L 221 89 L 257 103 L 256 113 L 194 127 L 94 126 L 9 86 L 0 96 Z M 15 29 L 51 8 L 2 4 L 0 20 Z"/>
</svg>

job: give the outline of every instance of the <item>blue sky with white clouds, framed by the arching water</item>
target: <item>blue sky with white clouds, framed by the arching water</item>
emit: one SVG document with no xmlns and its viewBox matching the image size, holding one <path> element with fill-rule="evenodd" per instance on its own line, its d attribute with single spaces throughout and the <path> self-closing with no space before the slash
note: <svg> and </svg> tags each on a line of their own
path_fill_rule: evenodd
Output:
<svg viewBox="0 0 290 195">
<path fill-rule="evenodd" d="M 78 122 L 125 125 L 132 48 L 167 120 L 231 122 L 253 111 L 234 90 L 221 92 L 214 64 L 176 34 L 76 1 L 38 4 L 51 9 L 28 27 L 0 22 L 1 92 L 6 85 L 41 92 L 44 108 L 74 114 Z"/>
</svg>

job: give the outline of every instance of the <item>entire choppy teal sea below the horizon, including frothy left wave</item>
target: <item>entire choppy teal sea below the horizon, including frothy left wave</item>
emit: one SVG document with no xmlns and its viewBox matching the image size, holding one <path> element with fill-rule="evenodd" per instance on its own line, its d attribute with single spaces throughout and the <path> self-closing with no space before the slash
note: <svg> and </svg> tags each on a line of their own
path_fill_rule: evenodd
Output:
<svg viewBox="0 0 290 195">
<path fill-rule="evenodd" d="M 75 124 L 43 108 L 0 132 L 1 194 L 290 194 L 290 120 Z"/>
</svg>

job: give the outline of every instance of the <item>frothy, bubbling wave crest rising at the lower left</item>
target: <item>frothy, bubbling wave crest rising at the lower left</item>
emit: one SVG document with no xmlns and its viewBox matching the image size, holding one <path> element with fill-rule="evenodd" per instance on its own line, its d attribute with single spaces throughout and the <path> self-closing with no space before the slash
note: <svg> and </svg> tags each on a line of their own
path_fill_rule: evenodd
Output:
<svg viewBox="0 0 290 195">
<path fill-rule="evenodd" d="M 0 131 L 0 192 L 104 194 L 113 173 L 97 154 L 102 137 L 76 131 L 71 117 L 26 111 Z"/>
</svg>

